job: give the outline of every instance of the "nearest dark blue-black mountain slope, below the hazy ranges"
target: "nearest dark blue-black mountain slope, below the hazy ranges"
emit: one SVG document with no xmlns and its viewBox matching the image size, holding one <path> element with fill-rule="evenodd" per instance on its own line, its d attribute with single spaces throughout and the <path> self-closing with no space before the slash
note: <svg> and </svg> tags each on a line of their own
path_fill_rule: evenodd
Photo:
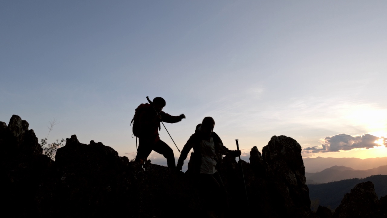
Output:
<svg viewBox="0 0 387 218">
<path fill-rule="evenodd" d="M 346 193 L 349 193 L 356 184 L 367 181 L 373 183 L 379 199 L 387 195 L 387 175 L 374 175 L 364 179 L 354 178 L 319 185 L 308 184 L 311 209 L 315 211 L 319 205 L 336 209 Z"/>
</svg>

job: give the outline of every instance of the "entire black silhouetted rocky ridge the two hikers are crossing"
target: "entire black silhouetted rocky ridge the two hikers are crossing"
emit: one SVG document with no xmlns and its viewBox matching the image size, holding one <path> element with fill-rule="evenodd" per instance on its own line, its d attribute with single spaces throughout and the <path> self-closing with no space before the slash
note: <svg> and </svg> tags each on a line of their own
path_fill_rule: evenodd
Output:
<svg viewBox="0 0 387 218">
<path fill-rule="evenodd" d="M 0 122 L 0 146 L 1 196 L 10 217 L 189 218 L 204 208 L 189 175 L 150 162 L 140 166 L 101 142 L 82 144 L 72 135 L 52 161 L 16 115 L 8 126 Z M 226 156 L 220 164 L 229 202 L 225 217 L 316 217 L 301 147 L 292 138 L 272 137 L 262 155 L 253 147 L 250 163 Z"/>
</svg>

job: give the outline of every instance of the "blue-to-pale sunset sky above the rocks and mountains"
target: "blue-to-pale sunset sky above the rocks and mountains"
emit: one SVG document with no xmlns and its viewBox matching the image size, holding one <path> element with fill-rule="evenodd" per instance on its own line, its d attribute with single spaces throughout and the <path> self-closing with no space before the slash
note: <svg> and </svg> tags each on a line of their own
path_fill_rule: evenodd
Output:
<svg viewBox="0 0 387 218">
<path fill-rule="evenodd" d="M 133 159 L 146 97 L 205 116 L 242 159 L 274 135 L 303 157 L 387 156 L 385 1 L 0 1 L 0 121 Z M 55 126 L 48 135 L 48 126 Z M 161 139 L 179 156 L 165 129 Z M 380 138 L 382 137 L 382 138 Z M 152 163 L 166 159 L 152 152 Z"/>
</svg>

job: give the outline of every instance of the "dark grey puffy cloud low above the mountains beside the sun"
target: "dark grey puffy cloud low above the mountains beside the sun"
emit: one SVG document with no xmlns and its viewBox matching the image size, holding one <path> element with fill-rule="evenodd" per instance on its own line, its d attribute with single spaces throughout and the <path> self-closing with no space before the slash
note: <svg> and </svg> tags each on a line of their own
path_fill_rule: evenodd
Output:
<svg viewBox="0 0 387 218">
<path fill-rule="evenodd" d="M 384 143 L 386 138 L 384 138 Z M 374 146 L 381 146 L 385 144 L 375 143 L 380 142 L 380 138 L 374 135 L 365 133 L 361 136 L 352 136 L 347 134 L 339 134 L 334 136 L 328 136 L 325 139 L 321 139 L 320 146 L 313 146 L 304 148 L 302 153 L 319 153 L 319 152 L 337 152 L 337 151 L 349 151 L 352 149 L 365 148 L 370 149 Z"/>
</svg>

